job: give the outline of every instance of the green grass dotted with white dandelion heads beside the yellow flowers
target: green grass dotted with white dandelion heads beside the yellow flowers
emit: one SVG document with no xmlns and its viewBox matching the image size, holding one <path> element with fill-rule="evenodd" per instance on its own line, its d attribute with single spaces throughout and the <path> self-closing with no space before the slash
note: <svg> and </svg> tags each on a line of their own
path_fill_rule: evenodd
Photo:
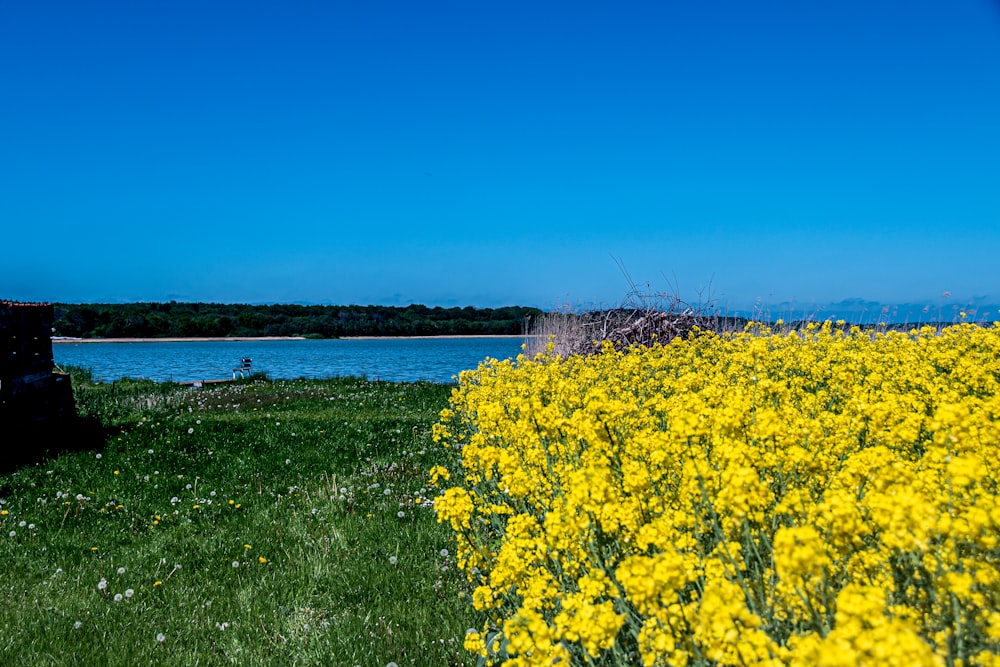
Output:
<svg viewBox="0 0 1000 667">
<path fill-rule="evenodd" d="M 74 389 L 97 446 L 0 475 L 0 663 L 475 664 L 427 500 L 449 387 Z"/>
</svg>

